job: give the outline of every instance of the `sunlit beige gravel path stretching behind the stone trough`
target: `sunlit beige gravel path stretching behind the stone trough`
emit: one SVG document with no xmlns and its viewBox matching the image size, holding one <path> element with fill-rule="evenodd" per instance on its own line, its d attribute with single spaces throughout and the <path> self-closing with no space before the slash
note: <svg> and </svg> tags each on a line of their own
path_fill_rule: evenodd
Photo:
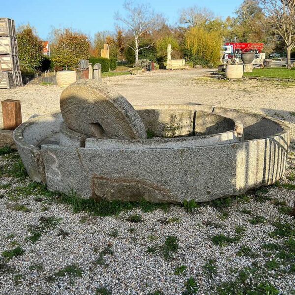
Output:
<svg viewBox="0 0 295 295">
<path fill-rule="evenodd" d="M 103 81 L 116 88 L 133 105 L 204 103 L 267 114 L 290 124 L 295 138 L 295 84 L 221 81 L 212 78 L 210 73 L 211 70 L 156 71 L 141 76 L 109 77 Z M 23 120 L 26 120 L 32 114 L 59 109 L 62 90 L 45 85 L 0 89 L 0 100 L 20 99 Z"/>
</svg>

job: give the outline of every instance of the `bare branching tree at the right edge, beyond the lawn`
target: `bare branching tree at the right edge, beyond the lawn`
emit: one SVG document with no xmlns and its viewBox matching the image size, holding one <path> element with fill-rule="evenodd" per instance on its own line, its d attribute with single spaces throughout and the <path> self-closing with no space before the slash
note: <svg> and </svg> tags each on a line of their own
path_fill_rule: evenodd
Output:
<svg viewBox="0 0 295 295">
<path fill-rule="evenodd" d="M 291 68 L 291 50 L 295 48 L 295 0 L 259 0 L 271 29 L 287 47 L 287 64 Z"/>
</svg>

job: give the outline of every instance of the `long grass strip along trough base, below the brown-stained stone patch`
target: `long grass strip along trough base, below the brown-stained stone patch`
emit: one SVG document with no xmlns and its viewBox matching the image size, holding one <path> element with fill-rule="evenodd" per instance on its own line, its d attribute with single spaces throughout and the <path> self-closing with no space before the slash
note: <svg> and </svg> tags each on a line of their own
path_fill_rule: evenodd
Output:
<svg viewBox="0 0 295 295">
<path fill-rule="evenodd" d="M 74 213 L 88 212 L 94 216 L 112 216 L 118 215 L 123 211 L 130 211 L 134 208 L 140 208 L 143 212 L 151 212 L 157 209 L 167 211 L 168 204 L 151 203 L 146 200 L 137 202 L 123 202 L 123 201 L 95 201 L 93 199 L 80 198 L 74 190 L 69 194 L 59 194 L 55 198 L 57 201 L 68 204 L 73 208 Z"/>
</svg>

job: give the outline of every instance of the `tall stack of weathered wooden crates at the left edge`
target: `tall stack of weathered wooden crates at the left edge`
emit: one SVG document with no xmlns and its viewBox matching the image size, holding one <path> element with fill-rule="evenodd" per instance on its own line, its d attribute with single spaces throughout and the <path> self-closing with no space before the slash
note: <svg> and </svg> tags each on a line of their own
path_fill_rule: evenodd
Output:
<svg viewBox="0 0 295 295">
<path fill-rule="evenodd" d="M 22 86 L 14 20 L 0 18 L 0 89 Z"/>
</svg>

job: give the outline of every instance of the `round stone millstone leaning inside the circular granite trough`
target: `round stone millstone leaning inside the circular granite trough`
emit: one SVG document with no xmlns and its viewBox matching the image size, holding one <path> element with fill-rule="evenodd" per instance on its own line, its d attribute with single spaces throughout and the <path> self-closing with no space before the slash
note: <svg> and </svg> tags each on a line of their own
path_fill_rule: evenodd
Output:
<svg viewBox="0 0 295 295">
<path fill-rule="evenodd" d="M 145 139 L 145 126 L 125 97 L 96 80 L 79 80 L 63 90 L 60 109 L 68 128 L 88 137 Z"/>
</svg>

